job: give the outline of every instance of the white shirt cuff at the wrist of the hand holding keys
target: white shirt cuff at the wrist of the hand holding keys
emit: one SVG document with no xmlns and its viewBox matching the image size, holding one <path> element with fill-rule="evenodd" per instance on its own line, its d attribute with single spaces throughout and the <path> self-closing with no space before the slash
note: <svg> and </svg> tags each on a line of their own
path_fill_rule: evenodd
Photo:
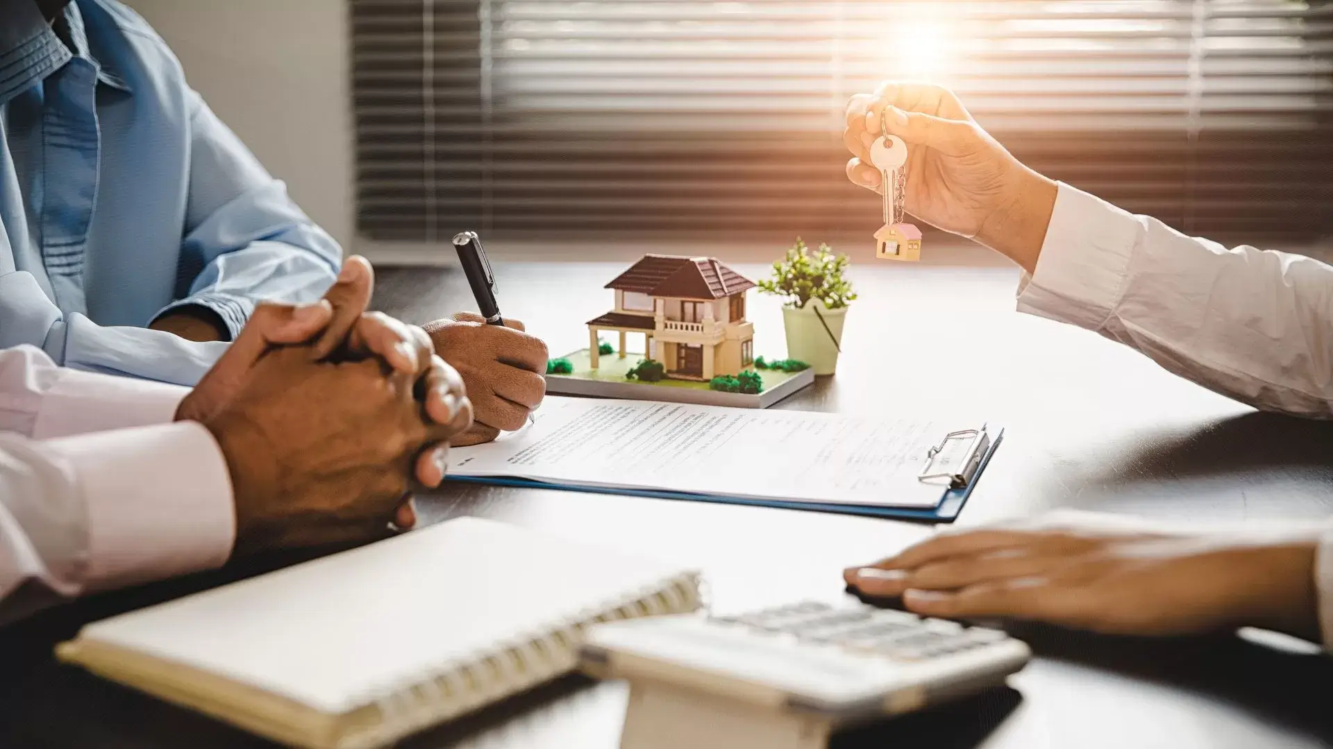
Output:
<svg viewBox="0 0 1333 749">
<path fill-rule="evenodd" d="M 1018 311 L 1101 329 L 1124 295 L 1142 231 L 1133 213 L 1058 183 L 1037 269 L 1018 285 Z"/>
</svg>

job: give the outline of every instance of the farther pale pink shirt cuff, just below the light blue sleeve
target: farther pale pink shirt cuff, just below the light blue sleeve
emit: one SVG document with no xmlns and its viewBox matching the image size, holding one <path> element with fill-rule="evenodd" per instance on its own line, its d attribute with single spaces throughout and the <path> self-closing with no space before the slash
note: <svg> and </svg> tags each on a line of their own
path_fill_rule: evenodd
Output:
<svg viewBox="0 0 1333 749">
<path fill-rule="evenodd" d="M 189 388 L 76 369 L 52 369 L 56 382 L 47 389 L 32 426 L 32 438 L 49 440 L 168 424 Z"/>
</svg>

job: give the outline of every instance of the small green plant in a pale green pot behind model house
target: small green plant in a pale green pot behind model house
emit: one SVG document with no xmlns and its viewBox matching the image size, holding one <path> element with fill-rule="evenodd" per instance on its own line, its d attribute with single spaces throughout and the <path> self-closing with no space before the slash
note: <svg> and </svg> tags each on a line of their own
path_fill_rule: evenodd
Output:
<svg viewBox="0 0 1333 749">
<path fill-rule="evenodd" d="M 848 257 L 833 255 L 829 245 L 812 252 L 797 239 L 786 257 L 773 264 L 773 277 L 758 283 L 761 292 L 786 299 L 786 356 L 809 363 L 816 374 L 837 369 L 846 305 L 856 299 L 844 279 L 846 267 Z"/>
</svg>

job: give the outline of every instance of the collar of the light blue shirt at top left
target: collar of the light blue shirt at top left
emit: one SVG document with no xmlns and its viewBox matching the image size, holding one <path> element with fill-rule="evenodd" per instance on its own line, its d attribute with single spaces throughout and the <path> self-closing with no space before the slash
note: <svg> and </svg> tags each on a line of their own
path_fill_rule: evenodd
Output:
<svg viewBox="0 0 1333 749">
<path fill-rule="evenodd" d="M 0 0 L 0 105 L 20 92 L 32 88 L 37 81 L 59 71 L 75 55 L 87 59 L 97 69 L 97 81 L 120 91 L 129 91 L 125 80 L 93 57 L 88 45 L 88 29 L 76 3 L 65 5 L 65 23 L 69 27 L 68 47 L 41 16 L 32 0 Z"/>
</svg>

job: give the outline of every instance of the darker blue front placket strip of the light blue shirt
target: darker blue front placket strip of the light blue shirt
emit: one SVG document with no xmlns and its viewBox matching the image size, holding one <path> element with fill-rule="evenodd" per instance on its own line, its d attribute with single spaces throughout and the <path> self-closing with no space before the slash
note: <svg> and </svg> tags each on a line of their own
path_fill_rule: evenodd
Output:
<svg viewBox="0 0 1333 749">
<path fill-rule="evenodd" d="M 41 260 L 56 304 L 84 311 L 84 259 L 97 200 L 97 68 L 75 57 L 45 83 Z"/>
</svg>

